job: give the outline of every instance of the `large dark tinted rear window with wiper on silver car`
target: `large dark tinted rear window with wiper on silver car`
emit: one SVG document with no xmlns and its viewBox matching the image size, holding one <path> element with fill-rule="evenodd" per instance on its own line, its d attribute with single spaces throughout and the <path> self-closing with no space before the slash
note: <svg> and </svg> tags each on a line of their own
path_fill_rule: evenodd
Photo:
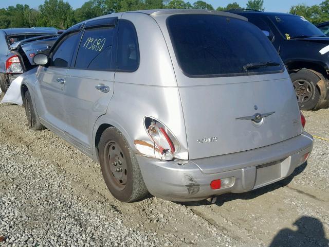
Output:
<svg viewBox="0 0 329 247">
<path fill-rule="evenodd" d="M 167 26 L 179 66 L 187 76 L 241 76 L 283 69 L 268 38 L 246 21 L 220 15 L 178 14 L 168 17 Z M 256 66 L 259 64 L 263 65 Z"/>
</svg>

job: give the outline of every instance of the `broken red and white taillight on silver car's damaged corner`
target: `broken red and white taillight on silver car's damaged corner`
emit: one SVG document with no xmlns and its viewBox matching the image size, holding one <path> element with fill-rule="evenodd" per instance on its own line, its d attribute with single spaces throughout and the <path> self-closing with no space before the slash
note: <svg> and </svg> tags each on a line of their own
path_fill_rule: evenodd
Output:
<svg viewBox="0 0 329 247">
<path fill-rule="evenodd" d="M 175 146 L 165 129 L 159 128 L 155 123 L 152 123 L 148 129 L 148 132 L 153 142 L 160 149 L 162 154 L 168 151 L 171 153 L 175 152 Z"/>
</svg>

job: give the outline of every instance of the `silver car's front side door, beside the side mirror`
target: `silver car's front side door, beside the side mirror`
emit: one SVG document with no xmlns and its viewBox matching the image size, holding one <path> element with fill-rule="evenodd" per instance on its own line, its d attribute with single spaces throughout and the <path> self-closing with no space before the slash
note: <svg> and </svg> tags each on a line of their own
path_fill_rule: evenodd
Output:
<svg viewBox="0 0 329 247">
<path fill-rule="evenodd" d="M 56 130 L 64 132 L 66 128 L 64 89 L 65 77 L 77 45 L 79 32 L 65 34 L 50 56 L 48 67 L 39 67 L 36 87 L 36 110 L 44 121 Z"/>
</svg>

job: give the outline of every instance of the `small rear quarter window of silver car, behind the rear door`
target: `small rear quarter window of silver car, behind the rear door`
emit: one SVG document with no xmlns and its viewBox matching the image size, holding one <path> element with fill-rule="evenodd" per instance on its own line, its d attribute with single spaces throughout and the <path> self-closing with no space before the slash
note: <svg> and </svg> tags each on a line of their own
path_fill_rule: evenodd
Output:
<svg viewBox="0 0 329 247">
<path fill-rule="evenodd" d="M 118 70 L 133 72 L 139 66 L 139 49 L 134 25 L 121 20 L 118 33 Z"/>
</svg>

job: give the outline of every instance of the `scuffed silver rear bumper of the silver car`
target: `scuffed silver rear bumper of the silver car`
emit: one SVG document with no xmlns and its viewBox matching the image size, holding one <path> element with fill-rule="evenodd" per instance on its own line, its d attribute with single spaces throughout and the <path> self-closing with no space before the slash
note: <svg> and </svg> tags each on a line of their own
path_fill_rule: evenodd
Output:
<svg viewBox="0 0 329 247">
<path fill-rule="evenodd" d="M 308 133 L 249 151 L 189 161 L 159 161 L 137 155 L 145 185 L 156 197 L 197 201 L 227 192 L 241 193 L 288 177 L 313 148 Z M 212 189 L 213 180 L 226 187 Z"/>
</svg>

